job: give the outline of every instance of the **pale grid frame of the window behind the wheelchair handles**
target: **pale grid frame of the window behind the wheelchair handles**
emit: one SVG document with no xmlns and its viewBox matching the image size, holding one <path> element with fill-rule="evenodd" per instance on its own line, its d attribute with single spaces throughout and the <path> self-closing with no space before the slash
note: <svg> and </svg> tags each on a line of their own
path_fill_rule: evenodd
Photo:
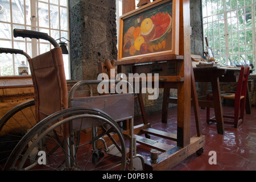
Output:
<svg viewBox="0 0 256 182">
<path fill-rule="evenodd" d="M 0 40 L 4 41 L 4 42 L 9 42 L 10 46 L 7 46 L 6 48 L 15 48 L 15 49 L 20 49 L 17 47 L 18 44 L 24 44 L 24 47 L 22 47 L 24 52 L 27 52 L 28 55 L 30 55 L 31 57 L 35 57 L 37 55 L 40 55 L 41 53 L 44 53 L 46 51 L 49 51 L 49 49 L 53 48 L 53 46 L 51 45 L 51 43 L 47 42 L 46 40 L 42 40 L 42 39 L 30 39 L 30 38 L 14 38 L 13 36 L 13 29 L 14 28 L 19 28 L 19 27 L 24 27 L 24 29 L 26 30 L 34 30 L 34 31 L 40 31 L 40 30 L 44 30 L 47 31 L 47 34 L 49 36 L 52 36 L 52 32 L 56 32 L 55 35 L 57 35 L 56 37 L 53 37 L 54 39 L 58 39 L 61 37 L 64 37 L 65 39 L 69 40 L 69 2 L 68 0 L 65 3 L 65 5 L 61 5 L 61 1 L 57 0 L 57 4 L 55 2 L 53 2 L 52 0 L 22 0 L 23 5 L 21 7 L 23 7 L 23 12 L 24 12 L 24 22 L 15 22 L 15 20 L 13 19 L 13 3 L 14 0 L 10 0 L 9 1 L 9 7 L 10 7 L 10 21 L 4 21 L 4 20 L 0 20 L 0 23 L 5 23 L 5 24 L 9 24 L 10 27 L 10 39 L 3 39 L 0 38 Z M 52 3 L 53 2 L 53 3 Z M 47 7 L 48 7 L 48 19 L 49 19 L 49 26 L 48 27 L 43 27 L 42 24 L 40 24 L 40 19 L 39 16 L 42 16 L 39 14 L 39 3 L 44 3 Z M 57 22 L 59 23 L 59 28 L 52 28 L 50 26 L 50 19 L 51 19 L 51 13 L 50 13 L 50 6 L 54 6 L 57 9 L 57 16 L 58 16 L 58 20 Z M 27 11 L 27 7 L 28 7 L 28 11 Z M 67 9 L 67 26 L 65 28 L 62 28 L 61 26 L 61 10 L 65 10 Z M 8 12 L 9 13 L 9 12 Z M 30 22 L 28 22 L 30 21 Z M 65 36 L 64 36 L 65 35 Z M 61 41 L 65 41 L 65 39 L 61 39 Z M 57 41 L 59 42 L 59 40 Z M 68 50 L 69 50 L 69 42 L 66 42 L 68 44 Z M 0 47 L 5 47 L 3 44 Z M 43 50 L 44 48 L 44 50 Z M 69 51 L 70 52 L 70 51 Z M 12 59 L 12 66 L 13 66 L 13 74 L 12 75 L 18 75 L 18 61 L 15 60 L 15 57 L 17 55 L 11 55 L 11 59 Z M 22 58 L 23 59 L 23 58 Z M 63 59 L 64 59 L 64 66 L 65 66 L 65 75 L 67 80 L 69 80 L 70 75 L 71 75 L 71 64 L 70 64 L 70 55 L 63 55 Z M 27 59 L 26 57 L 24 57 L 24 61 L 26 63 L 26 65 L 28 65 Z M 21 62 L 21 61 L 19 61 Z M 1 76 L 3 75 L 3 72 L 1 73 Z M 5 75 L 5 74 L 4 74 Z M 9 76 L 9 75 L 6 75 Z"/>
</svg>

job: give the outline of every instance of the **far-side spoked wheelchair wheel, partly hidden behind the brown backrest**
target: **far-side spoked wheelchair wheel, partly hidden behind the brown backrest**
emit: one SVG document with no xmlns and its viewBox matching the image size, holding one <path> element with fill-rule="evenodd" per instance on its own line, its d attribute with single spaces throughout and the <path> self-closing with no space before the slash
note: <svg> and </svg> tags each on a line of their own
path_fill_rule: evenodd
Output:
<svg viewBox="0 0 256 182">
<path fill-rule="evenodd" d="M 5 164 L 19 140 L 36 124 L 35 101 L 23 102 L 0 119 L 0 165 Z"/>
</svg>

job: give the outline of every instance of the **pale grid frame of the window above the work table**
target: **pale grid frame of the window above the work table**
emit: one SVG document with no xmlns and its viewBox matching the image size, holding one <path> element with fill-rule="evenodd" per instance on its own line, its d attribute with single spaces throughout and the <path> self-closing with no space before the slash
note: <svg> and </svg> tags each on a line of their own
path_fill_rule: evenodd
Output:
<svg viewBox="0 0 256 182">
<path fill-rule="evenodd" d="M 203 19 L 203 36 L 204 36 L 204 51 L 207 51 L 206 49 L 206 41 L 205 41 L 205 37 L 208 38 L 208 43 L 209 46 L 213 48 L 213 51 L 215 52 L 215 55 L 217 60 L 221 62 L 222 65 L 234 65 L 237 64 L 236 62 L 234 62 L 233 56 L 238 56 L 238 64 L 250 64 L 250 60 L 246 59 L 246 62 L 243 63 L 243 61 L 241 61 L 241 56 L 245 55 L 247 58 L 247 54 L 252 54 L 252 62 L 251 64 L 253 64 L 253 66 L 255 67 L 255 57 L 256 57 L 256 50 L 255 50 L 255 16 L 256 16 L 256 12 L 255 12 L 255 5 L 256 5 L 256 1 L 252 0 L 250 5 L 246 5 L 246 2 L 244 0 L 243 1 L 243 6 L 238 7 L 238 3 L 236 3 L 236 7 L 232 8 L 232 4 L 231 4 L 231 0 L 229 1 L 224 1 L 224 0 L 218 0 L 217 1 L 217 10 L 215 12 L 217 13 L 213 13 L 213 14 L 208 14 L 208 13 L 212 13 L 210 12 L 213 7 L 212 7 L 212 0 L 203 0 L 201 1 L 202 3 L 202 19 Z M 207 4 L 209 2 L 209 4 Z M 219 2 L 222 3 L 223 8 L 220 7 Z M 238 1 L 237 1 L 238 2 Z M 228 5 L 229 3 L 229 5 Z M 227 7 L 229 6 L 229 9 L 227 9 Z M 249 13 L 243 12 L 242 15 L 236 14 L 234 16 L 231 16 L 233 11 L 236 11 L 237 13 L 239 12 L 239 10 L 243 9 L 245 10 L 247 7 L 251 7 L 251 11 Z M 208 10 L 209 9 L 209 10 Z M 219 11 L 223 9 L 223 11 Z M 239 24 L 238 24 L 238 17 L 239 16 L 243 16 L 244 17 L 244 21 L 246 18 L 247 14 L 251 14 L 251 28 L 247 28 L 246 29 L 246 23 L 244 24 L 244 28 L 243 30 L 239 30 Z M 214 24 L 215 22 L 220 22 L 220 16 L 224 15 L 223 19 L 224 20 L 224 34 L 220 34 L 220 23 L 217 23 L 217 26 L 215 26 L 214 29 Z M 230 15 L 230 16 L 229 16 Z M 217 17 L 217 19 L 214 19 L 215 17 Z M 233 19 L 237 18 L 237 23 L 236 23 L 236 28 L 237 31 L 233 31 L 231 28 L 231 31 L 229 31 L 229 23 L 232 23 L 232 17 L 234 17 Z M 212 21 L 209 21 L 208 19 L 212 19 Z M 212 27 L 209 27 L 209 25 L 212 24 Z M 205 28 L 205 26 L 207 26 L 207 28 Z M 216 28 L 217 27 L 217 28 Z M 209 35 L 209 28 L 212 28 L 213 30 L 213 35 Z M 207 30 L 207 31 L 205 31 Z M 217 31 L 218 34 L 214 34 L 214 31 Z M 246 43 L 246 31 L 250 31 L 252 32 L 252 42 L 250 44 Z M 245 35 L 245 43 L 244 44 L 240 44 L 240 34 L 239 32 L 242 32 Z M 233 34 L 232 34 L 233 33 Z M 233 43 L 233 39 L 235 34 L 237 34 L 237 43 L 238 45 L 234 45 Z M 221 47 L 221 44 L 223 44 L 223 42 L 221 43 L 221 39 L 220 36 L 224 36 L 224 40 L 225 40 L 225 47 Z M 217 38 L 218 37 L 218 38 Z M 210 44 L 212 43 L 212 44 Z M 217 45 L 217 48 L 216 48 Z M 245 47 L 245 51 L 242 52 L 243 50 L 241 50 L 241 47 Z M 249 50 L 249 46 L 252 47 L 251 51 Z M 246 47 L 248 47 L 248 49 L 246 49 Z M 221 49 L 222 48 L 222 49 Z M 238 48 L 238 49 L 237 49 Z M 222 53 L 222 51 L 225 53 Z M 237 52 L 235 52 L 237 50 Z M 231 52 L 230 52 L 231 51 Z M 230 63 L 229 61 L 229 56 L 232 57 L 232 62 Z M 220 59 L 218 59 L 218 57 L 220 57 Z M 221 61 L 221 57 L 224 57 L 223 59 L 225 59 L 224 61 Z"/>
</svg>

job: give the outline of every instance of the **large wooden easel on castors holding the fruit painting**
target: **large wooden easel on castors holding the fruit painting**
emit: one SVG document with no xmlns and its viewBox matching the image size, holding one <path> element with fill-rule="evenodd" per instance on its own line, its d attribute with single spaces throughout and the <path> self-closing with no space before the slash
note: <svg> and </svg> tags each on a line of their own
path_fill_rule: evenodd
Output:
<svg viewBox="0 0 256 182">
<path fill-rule="evenodd" d="M 123 7 L 127 7 L 128 11 L 133 10 L 133 5 L 129 6 L 128 1 L 123 1 Z M 135 7 L 134 7 L 135 9 Z M 128 11 L 123 11 L 127 13 Z M 185 158 L 193 153 L 199 151 L 205 145 L 205 137 L 201 135 L 199 107 L 196 96 L 195 78 L 193 77 L 193 69 L 190 54 L 190 18 L 189 18 L 189 0 L 180 0 L 180 22 L 179 22 L 179 55 L 170 56 L 170 60 L 175 61 L 177 65 L 177 74 L 172 76 L 159 76 L 159 87 L 164 88 L 164 98 L 167 99 L 170 93 L 170 88 L 176 88 L 177 92 L 177 134 L 171 134 L 165 131 L 152 129 L 150 123 L 146 119 L 141 125 L 134 126 L 134 135 L 137 138 L 137 143 L 143 144 L 147 147 L 156 148 L 163 152 L 159 155 L 158 163 L 145 163 L 145 170 L 169 170 L 182 162 Z M 185 15 L 185 16 L 183 16 Z M 145 61 L 141 59 L 139 61 Z M 148 60 L 150 61 L 150 60 Z M 157 62 L 157 61 L 156 61 Z M 137 62 L 138 63 L 138 62 Z M 127 67 L 131 63 L 122 63 L 116 61 L 119 72 L 125 73 Z M 190 137 L 191 125 L 191 94 L 193 98 L 193 105 L 195 106 L 197 135 Z M 165 105 L 164 102 L 163 105 Z M 143 102 L 141 101 L 141 104 Z M 166 106 L 166 105 L 165 105 Z M 141 108 L 143 110 L 143 108 Z M 143 114 L 143 113 L 142 113 Z M 166 116 L 163 118 L 166 119 Z M 127 131 L 129 133 L 129 131 Z M 126 131 L 125 133 L 126 134 Z M 154 140 L 141 137 L 142 134 L 151 134 L 158 137 L 174 140 L 177 142 L 176 147 L 165 143 L 155 142 Z"/>
</svg>

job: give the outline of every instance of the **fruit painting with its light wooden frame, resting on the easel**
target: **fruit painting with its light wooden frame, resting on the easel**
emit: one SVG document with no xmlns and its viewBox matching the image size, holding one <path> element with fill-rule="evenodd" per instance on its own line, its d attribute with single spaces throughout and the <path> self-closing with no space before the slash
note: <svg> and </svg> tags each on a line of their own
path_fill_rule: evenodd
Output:
<svg viewBox="0 0 256 182">
<path fill-rule="evenodd" d="M 176 3 L 154 1 L 121 16 L 118 60 L 176 53 L 175 33 L 179 35 Z"/>
</svg>

